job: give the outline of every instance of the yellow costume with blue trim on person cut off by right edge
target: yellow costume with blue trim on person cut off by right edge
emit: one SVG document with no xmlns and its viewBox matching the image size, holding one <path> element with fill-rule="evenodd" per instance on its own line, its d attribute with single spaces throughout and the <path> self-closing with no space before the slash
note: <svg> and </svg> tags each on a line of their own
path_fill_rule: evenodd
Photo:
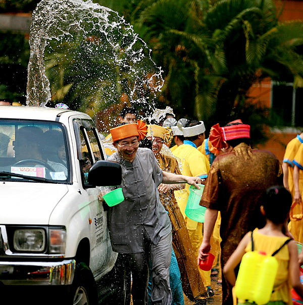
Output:
<svg viewBox="0 0 303 305">
<path fill-rule="evenodd" d="M 300 144 L 292 163 L 300 169 L 299 190 L 303 194 L 303 144 Z M 292 204 L 288 229 L 296 241 L 303 242 L 303 202 Z"/>
</svg>

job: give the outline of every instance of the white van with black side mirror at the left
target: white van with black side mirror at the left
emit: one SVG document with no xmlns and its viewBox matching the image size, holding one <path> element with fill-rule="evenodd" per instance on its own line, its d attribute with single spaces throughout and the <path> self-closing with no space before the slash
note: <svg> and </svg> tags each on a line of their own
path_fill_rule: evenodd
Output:
<svg viewBox="0 0 303 305">
<path fill-rule="evenodd" d="M 104 159 L 88 115 L 0 106 L 1 291 L 43 291 L 40 304 L 97 302 L 96 282 L 117 258 L 97 185 L 121 183 L 120 165 Z M 56 288 L 60 297 L 49 293 Z"/>
</svg>

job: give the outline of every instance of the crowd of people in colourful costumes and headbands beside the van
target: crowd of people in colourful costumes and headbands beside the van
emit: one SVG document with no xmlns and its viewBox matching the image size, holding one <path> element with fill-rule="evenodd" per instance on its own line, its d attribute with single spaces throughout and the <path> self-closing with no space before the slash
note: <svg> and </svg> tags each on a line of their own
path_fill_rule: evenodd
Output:
<svg viewBox="0 0 303 305">
<path fill-rule="evenodd" d="M 291 238 L 276 256 L 271 301 L 291 303 L 290 286 L 302 297 L 295 241 L 303 239 L 303 132 L 287 145 L 281 166 L 271 152 L 251 148 L 250 126 L 241 120 L 214 125 L 207 139 L 203 121 L 177 121 L 172 111 L 158 110 L 148 123 L 125 108 L 105 139 L 113 143 L 108 160 L 122 166 L 117 187 L 125 200 L 110 208 L 108 224 L 113 249 L 130 266 L 133 304 L 184 304 L 183 293 L 205 304 L 214 295 L 214 274 L 223 304 L 233 304 L 238 265 L 254 248 L 252 232 L 255 248 L 268 253 Z M 185 208 L 189 186 L 201 184 L 206 212 L 197 222 Z M 213 268 L 203 271 L 198 262 L 210 252 Z"/>
</svg>

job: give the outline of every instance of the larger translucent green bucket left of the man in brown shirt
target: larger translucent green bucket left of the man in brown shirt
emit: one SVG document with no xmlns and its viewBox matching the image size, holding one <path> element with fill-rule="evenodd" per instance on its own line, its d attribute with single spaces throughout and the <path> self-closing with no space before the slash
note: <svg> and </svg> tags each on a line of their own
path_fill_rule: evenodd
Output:
<svg viewBox="0 0 303 305">
<path fill-rule="evenodd" d="M 195 188 L 193 185 L 189 187 L 185 215 L 194 221 L 204 222 L 206 208 L 199 205 L 204 190 L 204 184 L 199 184 L 199 186 L 200 189 Z"/>
</svg>

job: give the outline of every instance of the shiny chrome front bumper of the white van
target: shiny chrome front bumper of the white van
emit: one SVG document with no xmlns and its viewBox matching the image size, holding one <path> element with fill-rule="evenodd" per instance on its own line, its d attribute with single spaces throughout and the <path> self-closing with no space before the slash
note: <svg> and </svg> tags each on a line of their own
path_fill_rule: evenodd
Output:
<svg viewBox="0 0 303 305">
<path fill-rule="evenodd" d="M 75 260 L 0 262 L 0 283 L 4 285 L 71 285 L 75 266 Z"/>
</svg>

